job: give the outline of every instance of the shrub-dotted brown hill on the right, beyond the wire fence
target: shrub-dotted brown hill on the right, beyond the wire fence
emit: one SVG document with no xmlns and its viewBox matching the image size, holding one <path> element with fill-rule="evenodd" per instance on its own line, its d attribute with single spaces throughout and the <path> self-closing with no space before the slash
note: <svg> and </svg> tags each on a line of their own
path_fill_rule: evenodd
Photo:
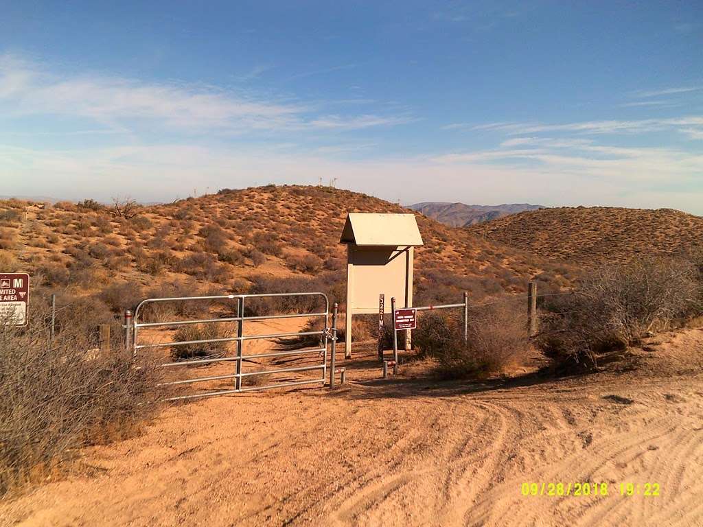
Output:
<svg viewBox="0 0 703 527">
<path fill-rule="evenodd" d="M 521 212 L 467 230 L 576 265 L 671 256 L 703 245 L 703 218 L 673 209 L 560 207 Z"/>
</svg>

